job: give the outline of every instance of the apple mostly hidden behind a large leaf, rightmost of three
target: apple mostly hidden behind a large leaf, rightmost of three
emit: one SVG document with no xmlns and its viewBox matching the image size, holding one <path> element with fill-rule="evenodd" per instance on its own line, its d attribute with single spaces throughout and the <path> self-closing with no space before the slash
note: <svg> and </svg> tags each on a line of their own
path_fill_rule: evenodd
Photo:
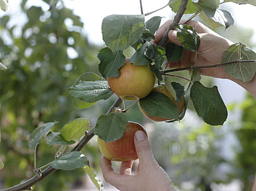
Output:
<svg viewBox="0 0 256 191">
<path fill-rule="evenodd" d="M 161 92 L 163 93 L 164 95 L 166 95 L 170 100 L 173 101 L 173 103 L 175 105 L 177 105 L 178 109 L 179 109 L 179 114 L 181 113 L 181 111 L 183 110 L 184 108 L 184 104 L 185 104 L 185 98 L 184 96 L 181 97 L 180 101 L 178 103 L 175 103 L 175 98 L 172 96 L 172 94 L 169 93 L 168 89 L 166 88 L 166 86 L 164 85 L 157 85 L 155 86 L 152 91 L 155 91 L 155 92 Z M 172 118 L 163 118 L 163 117 L 157 117 L 157 116 L 150 116 L 149 114 L 146 113 L 145 110 L 143 110 L 140 106 L 140 102 L 138 102 L 138 106 L 139 106 L 139 109 L 140 111 L 147 117 L 149 118 L 150 120 L 152 121 L 168 121 L 168 120 L 173 120 Z"/>
</svg>

